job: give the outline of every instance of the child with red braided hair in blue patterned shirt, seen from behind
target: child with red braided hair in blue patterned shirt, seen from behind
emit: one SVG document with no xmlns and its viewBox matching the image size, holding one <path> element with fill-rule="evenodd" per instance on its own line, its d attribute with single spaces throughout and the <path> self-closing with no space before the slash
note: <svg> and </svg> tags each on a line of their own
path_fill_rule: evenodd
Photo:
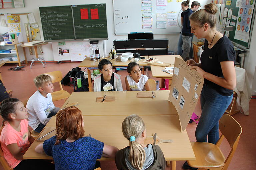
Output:
<svg viewBox="0 0 256 170">
<path fill-rule="evenodd" d="M 56 115 L 56 135 L 35 148 L 52 156 L 55 170 L 93 170 L 101 156 L 114 158 L 118 149 L 92 137 L 84 136 L 82 112 L 67 107 Z"/>
</svg>

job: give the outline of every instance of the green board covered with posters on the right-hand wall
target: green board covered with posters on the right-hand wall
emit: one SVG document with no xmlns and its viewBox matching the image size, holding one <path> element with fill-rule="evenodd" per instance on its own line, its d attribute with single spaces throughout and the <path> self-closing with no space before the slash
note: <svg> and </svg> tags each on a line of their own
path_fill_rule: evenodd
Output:
<svg viewBox="0 0 256 170">
<path fill-rule="evenodd" d="M 228 12 L 225 15 L 224 9 L 223 28 L 225 26 L 234 27 L 233 31 L 225 34 L 229 34 L 228 38 L 232 42 L 249 48 L 255 18 L 255 0 L 226 1 L 225 8 L 227 8 Z M 230 10 L 232 10 L 232 14 Z"/>
</svg>

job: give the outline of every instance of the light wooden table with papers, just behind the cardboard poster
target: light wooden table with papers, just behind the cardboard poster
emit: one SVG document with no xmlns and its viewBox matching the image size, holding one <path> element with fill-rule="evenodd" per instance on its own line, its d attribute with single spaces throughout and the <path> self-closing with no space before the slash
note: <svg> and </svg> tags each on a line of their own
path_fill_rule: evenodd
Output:
<svg viewBox="0 0 256 170">
<path fill-rule="evenodd" d="M 152 55 L 152 56 L 148 56 L 148 57 L 149 58 L 156 57 L 158 59 L 158 61 L 163 61 L 165 63 L 171 63 L 172 65 L 169 67 L 174 67 L 175 57 L 182 59 L 182 57 L 180 55 Z M 155 66 L 155 65 L 151 65 L 150 67 L 151 67 L 151 72 L 152 72 L 153 77 L 162 78 L 161 86 L 165 87 L 164 79 L 169 79 L 169 87 L 170 87 L 171 82 L 172 82 L 172 74 L 168 74 L 168 73 L 162 71 L 165 69 L 165 67 L 160 67 L 160 66 Z"/>
</svg>

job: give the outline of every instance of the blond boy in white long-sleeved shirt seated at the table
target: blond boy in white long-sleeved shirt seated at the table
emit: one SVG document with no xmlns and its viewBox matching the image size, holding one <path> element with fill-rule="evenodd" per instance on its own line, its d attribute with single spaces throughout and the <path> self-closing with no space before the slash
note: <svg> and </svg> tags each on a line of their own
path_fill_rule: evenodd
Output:
<svg viewBox="0 0 256 170">
<path fill-rule="evenodd" d="M 34 79 L 34 83 L 38 90 L 28 99 L 28 125 L 41 132 L 60 108 L 52 102 L 53 84 L 50 76 L 41 74 Z"/>
</svg>

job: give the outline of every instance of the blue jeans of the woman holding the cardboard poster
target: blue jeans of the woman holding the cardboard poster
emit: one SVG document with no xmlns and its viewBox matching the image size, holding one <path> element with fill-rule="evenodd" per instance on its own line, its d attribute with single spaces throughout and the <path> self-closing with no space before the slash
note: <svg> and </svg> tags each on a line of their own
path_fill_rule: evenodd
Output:
<svg viewBox="0 0 256 170">
<path fill-rule="evenodd" d="M 233 99 L 231 96 L 223 96 L 216 90 L 204 84 L 201 92 L 202 114 L 196 127 L 196 141 L 216 144 L 219 139 L 219 120 L 227 110 Z"/>
</svg>

